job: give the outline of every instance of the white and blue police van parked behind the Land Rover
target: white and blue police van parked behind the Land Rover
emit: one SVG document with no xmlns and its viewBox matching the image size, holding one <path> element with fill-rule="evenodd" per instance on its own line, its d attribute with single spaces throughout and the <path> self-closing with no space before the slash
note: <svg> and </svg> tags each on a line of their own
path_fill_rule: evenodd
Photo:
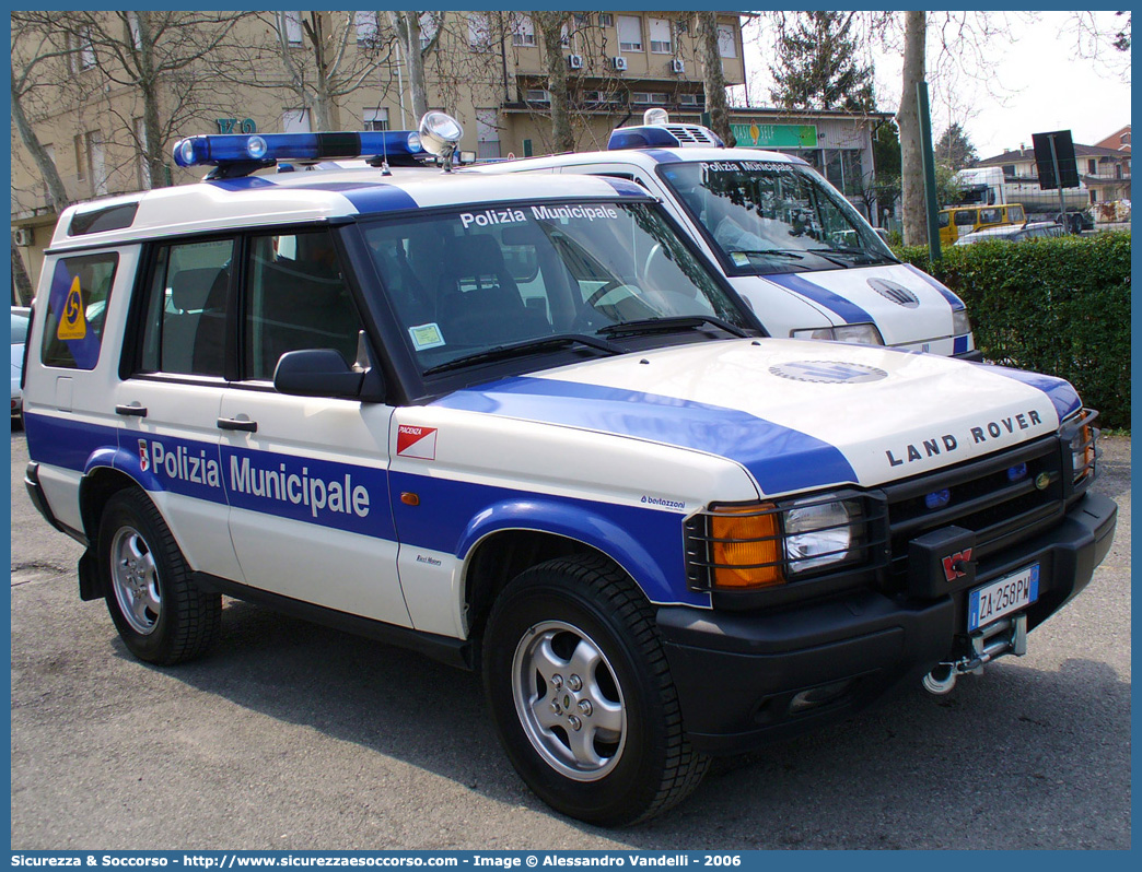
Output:
<svg viewBox="0 0 1142 872">
<path fill-rule="evenodd" d="M 981 361 L 964 301 L 900 263 L 852 204 L 801 158 L 726 148 L 660 108 L 604 152 L 483 164 L 482 172 L 587 173 L 660 199 L 771 336 L 886 345 Z"/>
</svg>

